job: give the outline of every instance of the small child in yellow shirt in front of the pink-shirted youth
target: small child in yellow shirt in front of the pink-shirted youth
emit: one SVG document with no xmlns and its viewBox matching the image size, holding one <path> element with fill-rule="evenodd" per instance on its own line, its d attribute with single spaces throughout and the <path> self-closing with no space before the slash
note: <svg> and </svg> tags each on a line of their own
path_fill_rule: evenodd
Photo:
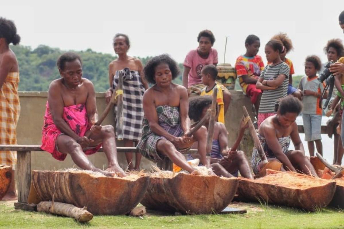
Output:
<svg viewBox="0 0 344 229">
<path fill-rule="evenodd" d="M 216 83 L 217 69 L 214 65 L 206 65 L 201 71 L 202 83 L 206 85 L 201 92 L 203 95 L 212 95 L 213 89 L 217 88 L 217 104 L 220 106 L 218 114 L 218 122 L 225 124 L 225 114 L 227 112 L 229 103 L 224 101 L 225 96 L 231 96 L 229 91 L 222 91 L 221 87 Z"/>
</svg>

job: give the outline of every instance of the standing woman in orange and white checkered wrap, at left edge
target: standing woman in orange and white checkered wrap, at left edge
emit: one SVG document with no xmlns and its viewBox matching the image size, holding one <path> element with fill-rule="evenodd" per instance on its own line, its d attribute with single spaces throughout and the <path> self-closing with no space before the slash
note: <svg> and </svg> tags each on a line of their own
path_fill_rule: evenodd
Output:
<svg viewBox="0 0 344 229">
<path fill-rule="evenodd" d="M 0 144 L 17 144 L 17 123 L 20 113 L 18 96 L 19 66 L 9 44 L 17 45 L 20 36 L 14 23 L 0 18 Z M 12 180 L 2 200 L 16 200 L 14 170 L 17 162 L 15 151 L 0 151 L 0 164 L 12 166 Z"/>
</svg>

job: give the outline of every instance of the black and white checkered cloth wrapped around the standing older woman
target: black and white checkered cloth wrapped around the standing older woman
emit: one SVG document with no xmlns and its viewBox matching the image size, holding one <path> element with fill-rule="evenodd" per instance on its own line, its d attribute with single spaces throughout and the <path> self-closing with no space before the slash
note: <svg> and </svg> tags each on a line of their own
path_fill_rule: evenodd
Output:
<svg viewBox="0 0 344 229">
<path fill-rule="evenodd" d="M 116 71 L 112 83 L 114 91 L 117 88 L 119 74 L 123 76 L 123 138 L 138 141 L 142 133 L 144 87 L 138 71 L 124 68 Z M 117 107 L 115 113 L 116 110 Z"/>
</svg>

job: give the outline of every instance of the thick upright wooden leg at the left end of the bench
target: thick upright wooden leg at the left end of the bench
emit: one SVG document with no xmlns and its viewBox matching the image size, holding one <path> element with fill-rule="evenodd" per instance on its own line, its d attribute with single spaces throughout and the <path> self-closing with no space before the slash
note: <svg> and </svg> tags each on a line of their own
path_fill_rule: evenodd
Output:
<svg viewBox="0 0 344 229">
<path fill-rule="evenodd" d="M 28 203 L 31 185 L 31 151 L 17 151 L 18 202 Z"/>
</svg>

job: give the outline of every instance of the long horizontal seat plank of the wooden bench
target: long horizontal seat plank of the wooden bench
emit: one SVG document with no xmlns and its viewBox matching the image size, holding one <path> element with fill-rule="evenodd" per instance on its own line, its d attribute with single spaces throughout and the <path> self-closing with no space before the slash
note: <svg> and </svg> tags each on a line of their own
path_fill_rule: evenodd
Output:
<svg viewBox="0 0 344 229">
<path fill-rule="evenodd" d="M 1 150 L 12 150 L 12 151 L 44 151 L 40 148 L 39 145 L 0 145 Z M 103 147 L 101 147 L 98 152 L 104 152 Z M 136 147 L 117 147 L 117 152 L 126 153 L 126 152 L 137 152 Z M 197 149 L 190 149 L 189 152 L 197 153 Z M 186 152 L 186 153 L 189 153 Z"/>
</svg>

